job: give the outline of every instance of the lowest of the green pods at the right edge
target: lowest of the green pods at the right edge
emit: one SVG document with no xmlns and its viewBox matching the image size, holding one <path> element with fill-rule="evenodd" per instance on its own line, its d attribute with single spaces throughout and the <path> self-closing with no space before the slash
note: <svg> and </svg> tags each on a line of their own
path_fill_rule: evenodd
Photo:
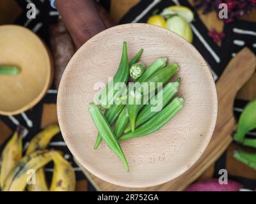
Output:
<svg viewBox="0 0 256 204">
<path fill-rule="evenodd" d="M 234 152 L 233 156 L 241 163 L 244 163 L 254 170 L 256 170 L 256 154 L 244 152 L 244 150 L 237 150 Z"/>
</svg>

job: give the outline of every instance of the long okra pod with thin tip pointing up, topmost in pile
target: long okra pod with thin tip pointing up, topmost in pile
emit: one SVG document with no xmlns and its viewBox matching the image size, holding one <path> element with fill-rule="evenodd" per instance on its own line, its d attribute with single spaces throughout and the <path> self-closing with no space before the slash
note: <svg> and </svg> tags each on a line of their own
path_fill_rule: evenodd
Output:
<svg viewBox="0 0 256 204">
<path fill-rule="evenodd" d="M 127 83 L 129 77 L 129 61 L 128 61 L 128 55 L 127 55 L 127 43 L 124 42 L 123 45 L 123 54 L 122 59 L 119 65 L 119 68 L 113 77 L 113 86 L 115 87 L 115 84 L 117 82 L 124 82 Z M 120 90 L 113 90 L 113 87 L 109 89 L 109 84 L 100 91 L 97 96 L 96 100 L 97 103 L 99 103 L 102 108 L 109 109 L 110 105 L 113 104 L 114 99 L 120 94 Z M 99 101 L 100 99 L 100 101 Z"/>
</svg>

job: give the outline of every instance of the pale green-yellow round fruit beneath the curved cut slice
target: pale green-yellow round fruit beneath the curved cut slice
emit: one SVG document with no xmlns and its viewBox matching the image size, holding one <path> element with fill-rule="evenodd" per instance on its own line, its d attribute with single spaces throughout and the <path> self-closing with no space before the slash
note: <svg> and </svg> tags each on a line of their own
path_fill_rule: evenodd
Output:
<svg viewBox="0 0 256 204">
<path fill-rule="evenodd" d="M 167 28 L 192 43 L 193 33 L 189 23 L 184 18 L 175 16 L 167 20 Z"/>
</svg>

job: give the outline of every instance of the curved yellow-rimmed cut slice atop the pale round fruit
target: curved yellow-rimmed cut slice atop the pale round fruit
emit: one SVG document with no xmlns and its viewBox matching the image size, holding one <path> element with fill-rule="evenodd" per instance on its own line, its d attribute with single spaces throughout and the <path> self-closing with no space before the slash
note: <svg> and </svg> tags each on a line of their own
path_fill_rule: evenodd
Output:
<svg viewBox="0 0 256 204">
<path fill-rule="evenodd" d="M 194 19 L 193 12 L 186 6 L 169 6 L 168 8 L 164 8 L 161 13 L 163 17 L 175 14 L 184 18 L 189 23 Z"/>
</svg>

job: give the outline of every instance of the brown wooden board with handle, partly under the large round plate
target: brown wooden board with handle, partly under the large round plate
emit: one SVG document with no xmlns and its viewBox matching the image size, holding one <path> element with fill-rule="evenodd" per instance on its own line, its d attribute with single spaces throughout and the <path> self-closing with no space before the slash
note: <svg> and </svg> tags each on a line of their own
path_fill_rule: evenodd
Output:
<svg viewBox="0 0 256 204">
<path fill-rule="evenodd" d="M 236 92 L 243 84 L 252 76 L 256 67 L 256 57 L 248 48 L 244 48 L 239 52 L 228 64 L 220 80 L 217 82 L 218 92 L 218 119 L 216 128 L 212 135 L 204 154 L 198 161 L 189 168 L 188 171 L 180 175 L 180 177 L 166 182 L 160 186 L 148 188 L 127 188 L 116 186 L 104 182 L 92 175 L 88 171 L 84 171 L 88 178 L 101 191 L 182 191 L 196 180 L 211 164 L 221 156 L 222 152 L 227 149 L 232 136 L 230 135 L 236 126 L 236 120 L 233 115 L 233 102 Z"/>
</svg>

